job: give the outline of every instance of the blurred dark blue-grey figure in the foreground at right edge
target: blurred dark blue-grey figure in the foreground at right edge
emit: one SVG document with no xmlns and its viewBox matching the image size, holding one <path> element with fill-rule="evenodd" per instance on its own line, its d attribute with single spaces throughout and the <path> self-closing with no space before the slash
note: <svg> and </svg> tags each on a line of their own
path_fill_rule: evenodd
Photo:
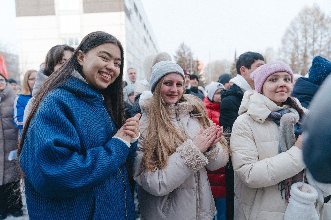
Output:
<svg viewBox="0 0 331 220">
<path fill-rule="evenodd" d="M 331 76 L 311 101 L 309 113 L 303 122 L 304 161 L 310 173 L 319 182 L 331 183 Z"/>
</svg>

